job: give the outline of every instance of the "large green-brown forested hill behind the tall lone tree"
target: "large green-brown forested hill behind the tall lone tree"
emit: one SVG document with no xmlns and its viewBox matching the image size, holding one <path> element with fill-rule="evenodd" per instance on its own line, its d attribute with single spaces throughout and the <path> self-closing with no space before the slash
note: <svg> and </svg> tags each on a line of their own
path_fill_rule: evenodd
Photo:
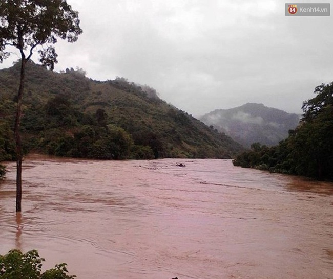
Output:
<svg viewBox="0 0 333 279">
<path fill-rule="evenodd" d="M 11 131 L 19 63 L 0 71 L 0 160 L 14 157 Z M 29 63 L 23 98 L 26 151 L 100 159 L 232 158 L 242 146 L 156 91 L 123 78 L 94 81 L 81 69 Z"/>
</svg>

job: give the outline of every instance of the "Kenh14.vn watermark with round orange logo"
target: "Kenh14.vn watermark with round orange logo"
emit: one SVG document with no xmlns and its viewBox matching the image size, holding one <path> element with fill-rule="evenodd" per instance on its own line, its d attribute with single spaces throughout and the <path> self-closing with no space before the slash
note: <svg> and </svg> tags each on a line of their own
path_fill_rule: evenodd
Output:
<svg viewBox="0 0 333 279">
<path fill-rule="evenodd" d="M 286 3 L 286 16 L 329 16 L 330 3 Z"/>
</svg>

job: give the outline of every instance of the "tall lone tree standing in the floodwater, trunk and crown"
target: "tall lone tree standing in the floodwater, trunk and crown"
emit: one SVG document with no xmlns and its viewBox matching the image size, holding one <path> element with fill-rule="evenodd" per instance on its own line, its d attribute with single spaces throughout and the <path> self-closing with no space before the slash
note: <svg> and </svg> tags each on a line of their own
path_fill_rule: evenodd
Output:
<svg viewBox="0 0 333 279">
<path fill-rule="evenodd" d="M 22 143 L 19 133 L 24 94 L 25 69 L 33 53 L 39 61 L 53 70 L 57 53 L 53 44 L 57 38 L 75 42 L 82 33 L 78 12 L 66 0 L 1 0 L 0 2 L 0 63 L 11 55 L 10 47 L 20 55 L 20 82 L 17 93 L 14 126 L 16 143 L 16 212 L 21 211 Z"/>
</svg>

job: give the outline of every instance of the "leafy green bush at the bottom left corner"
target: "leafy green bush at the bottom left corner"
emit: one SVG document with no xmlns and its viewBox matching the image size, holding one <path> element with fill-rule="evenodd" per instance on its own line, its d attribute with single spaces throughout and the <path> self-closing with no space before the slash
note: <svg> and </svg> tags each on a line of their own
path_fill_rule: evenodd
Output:
<svg viewBox="0 0 333 279">
<path fill-rule="evenodd" d="M 31 250 L 22 253 L 20 250 L 10 250 L 6 255 L 0 255 L 0 279 L 73 279 L 69 275 L 65 263 L 41 272 L 42 262 L 38 251 Z"/>
</svg>

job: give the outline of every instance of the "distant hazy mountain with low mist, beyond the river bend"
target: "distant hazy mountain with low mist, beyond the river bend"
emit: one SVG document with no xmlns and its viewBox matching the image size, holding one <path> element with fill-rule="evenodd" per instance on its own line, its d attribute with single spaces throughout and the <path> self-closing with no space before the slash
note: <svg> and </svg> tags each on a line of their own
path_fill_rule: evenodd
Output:
<svg viewBox="0 0 333 279">
<path fill-rule="evenodd" d="M 247 103 L 232 109 L 217 109 L 200 118 L 235 141 L 250 147 L 252 143 L 273 146 L 295 129 L 300 117 L 263 104 Z"/>
</svg>

